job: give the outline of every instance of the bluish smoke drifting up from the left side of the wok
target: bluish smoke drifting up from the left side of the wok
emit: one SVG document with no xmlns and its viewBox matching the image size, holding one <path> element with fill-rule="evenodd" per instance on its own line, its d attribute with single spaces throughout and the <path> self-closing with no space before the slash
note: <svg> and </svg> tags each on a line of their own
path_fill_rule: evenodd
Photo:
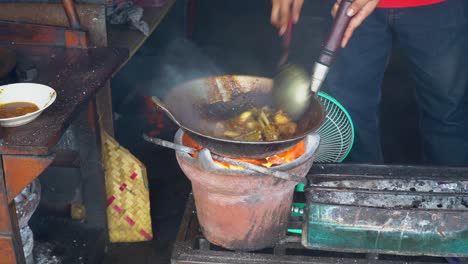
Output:
<svg viewBox="0 0 468 264">
<path fill-rule="evenodd" d="M 114 78 L 113 97 L 119 102 L 116 113 L 125 111 L 141 96 L 164 98 L 166 93 L 183 82 L 227 72 L 214 62 L 194 42 L 181 36 L 169 34 L 169 40 L 146 45 L 143 54 L 136 54 L 119 75 Z"/>
</svg>

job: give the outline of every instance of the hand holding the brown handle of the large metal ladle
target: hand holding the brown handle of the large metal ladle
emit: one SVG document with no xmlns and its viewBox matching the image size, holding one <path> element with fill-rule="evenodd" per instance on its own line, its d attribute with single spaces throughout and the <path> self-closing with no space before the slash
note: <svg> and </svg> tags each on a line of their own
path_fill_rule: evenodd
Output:
<svg viewBox="0 0 468 264">
<path fill-rule="evenodd" d="M 341 42 L 341 47 L 344 48 L 351 36 L 353 35 L 354 30 L 362 24 L 362 22 L 374 11 L 374 9 L 379 4 L 380 0 L 354 0 L 351 6 L 348 8 L 347 15 L 353 17 L 349 22 L 348 27 L 343 35 L 343 41 Z M 336 12 L 340 6 L 341 0 L 337 0 L 333 5 L 331 14 L 335 17 Z"/>
</svg>

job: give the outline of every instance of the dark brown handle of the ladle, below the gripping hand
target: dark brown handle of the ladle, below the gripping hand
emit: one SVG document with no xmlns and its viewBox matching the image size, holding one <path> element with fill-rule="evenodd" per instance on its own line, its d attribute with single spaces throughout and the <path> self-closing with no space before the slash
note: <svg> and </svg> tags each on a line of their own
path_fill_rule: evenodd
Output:
<svg viewBox="0 0 468 264">
<path fill-rule="evenodd" d="M 342 0 L 336 12 L 335 20 L 333 21 L 332 29 L 323 45 L 322 52 L 317 60 L 325 66 L 330 67 L 335 60 L 336 53 L 343 41 L 343 35 L 349 25 L 352 17 L 349 17 L 346 12 L 354 0 Z"/>
</svg>

